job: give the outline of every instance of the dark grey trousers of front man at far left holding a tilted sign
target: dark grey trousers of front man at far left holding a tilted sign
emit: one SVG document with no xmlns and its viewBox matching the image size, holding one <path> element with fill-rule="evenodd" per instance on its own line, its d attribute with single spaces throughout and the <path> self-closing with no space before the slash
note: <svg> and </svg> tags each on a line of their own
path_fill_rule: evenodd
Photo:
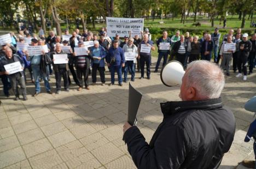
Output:
<svg viewBox="0 0 256 169">
<path fill-rule="evenodd" d="M 17 74 L 19 74 L 19 75 L 17 75 Z M 13 93 L 15 96 L 19 97 L 19 95 L 20 95 L 19 89 L 18 89 L 18 84 L 20 85 L 22 95 L 23 96 L 27 95 L 24 75 L 21 75 L 21 73 L 15 73 L 15 74 L 10 75 L 9 79 L 11 82 L 11 87 L 13 87 Z"/>
</svg>

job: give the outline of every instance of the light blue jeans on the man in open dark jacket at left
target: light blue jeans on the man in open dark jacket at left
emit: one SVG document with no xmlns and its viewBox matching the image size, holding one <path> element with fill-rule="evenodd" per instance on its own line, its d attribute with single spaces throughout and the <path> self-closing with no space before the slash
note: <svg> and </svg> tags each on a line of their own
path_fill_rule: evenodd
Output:
<svg viewBox="0 0 256 169">
<path fill-rule="evenodd" d="M 40 89 L 40 83 L 39 83 L 39 78 L 42 76 L 43 80 L 44 80 L 44 87 L 46 89 L 46 91 L 50 91 L 51 87 L 50 87 L 50 83 L 48 81 L 47 75 L 45 73 L 42 73 L 42 71 L 40 71 L 40 66 L 39 65 L 31 65 L 32 71 L 33 71 L 33 76 L 34 76 L 34 85 L 36 86 L 36 93 L 40 93 L 41 89 Z"/>
</svg>

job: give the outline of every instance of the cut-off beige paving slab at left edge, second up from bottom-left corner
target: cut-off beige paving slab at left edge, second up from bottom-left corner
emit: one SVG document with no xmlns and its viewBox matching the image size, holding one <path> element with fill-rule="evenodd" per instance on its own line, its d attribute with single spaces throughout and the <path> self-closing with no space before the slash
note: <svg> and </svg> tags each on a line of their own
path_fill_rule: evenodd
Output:
<svg viewBox="0 0 256 169">
<path fill-rule="evenodd" d="M 15 147 L 19 147 L 20 143 L 16 136 L 10 136 L 0 140 L 0 153 Z"/>
</svg>

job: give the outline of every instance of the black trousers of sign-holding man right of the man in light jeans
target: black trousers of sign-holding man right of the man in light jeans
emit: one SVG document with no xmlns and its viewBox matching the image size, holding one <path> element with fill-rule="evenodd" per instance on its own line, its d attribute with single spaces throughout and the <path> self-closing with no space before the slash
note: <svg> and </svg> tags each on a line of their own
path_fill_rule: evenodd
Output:
<svg viewBox="0 0 256 169">
<path fill-rule="evenodd" d="M 66 68 L 64 68 L 64 69 L 59 69 L 57 72 L 55 72 L 56 90 L 61 90 L 61 77 L 63 78 L 63 81 L 64 81 L 64 88 L 65 89 L 69 88 L 68 71 L 66 70 Z"/>
</svg>

